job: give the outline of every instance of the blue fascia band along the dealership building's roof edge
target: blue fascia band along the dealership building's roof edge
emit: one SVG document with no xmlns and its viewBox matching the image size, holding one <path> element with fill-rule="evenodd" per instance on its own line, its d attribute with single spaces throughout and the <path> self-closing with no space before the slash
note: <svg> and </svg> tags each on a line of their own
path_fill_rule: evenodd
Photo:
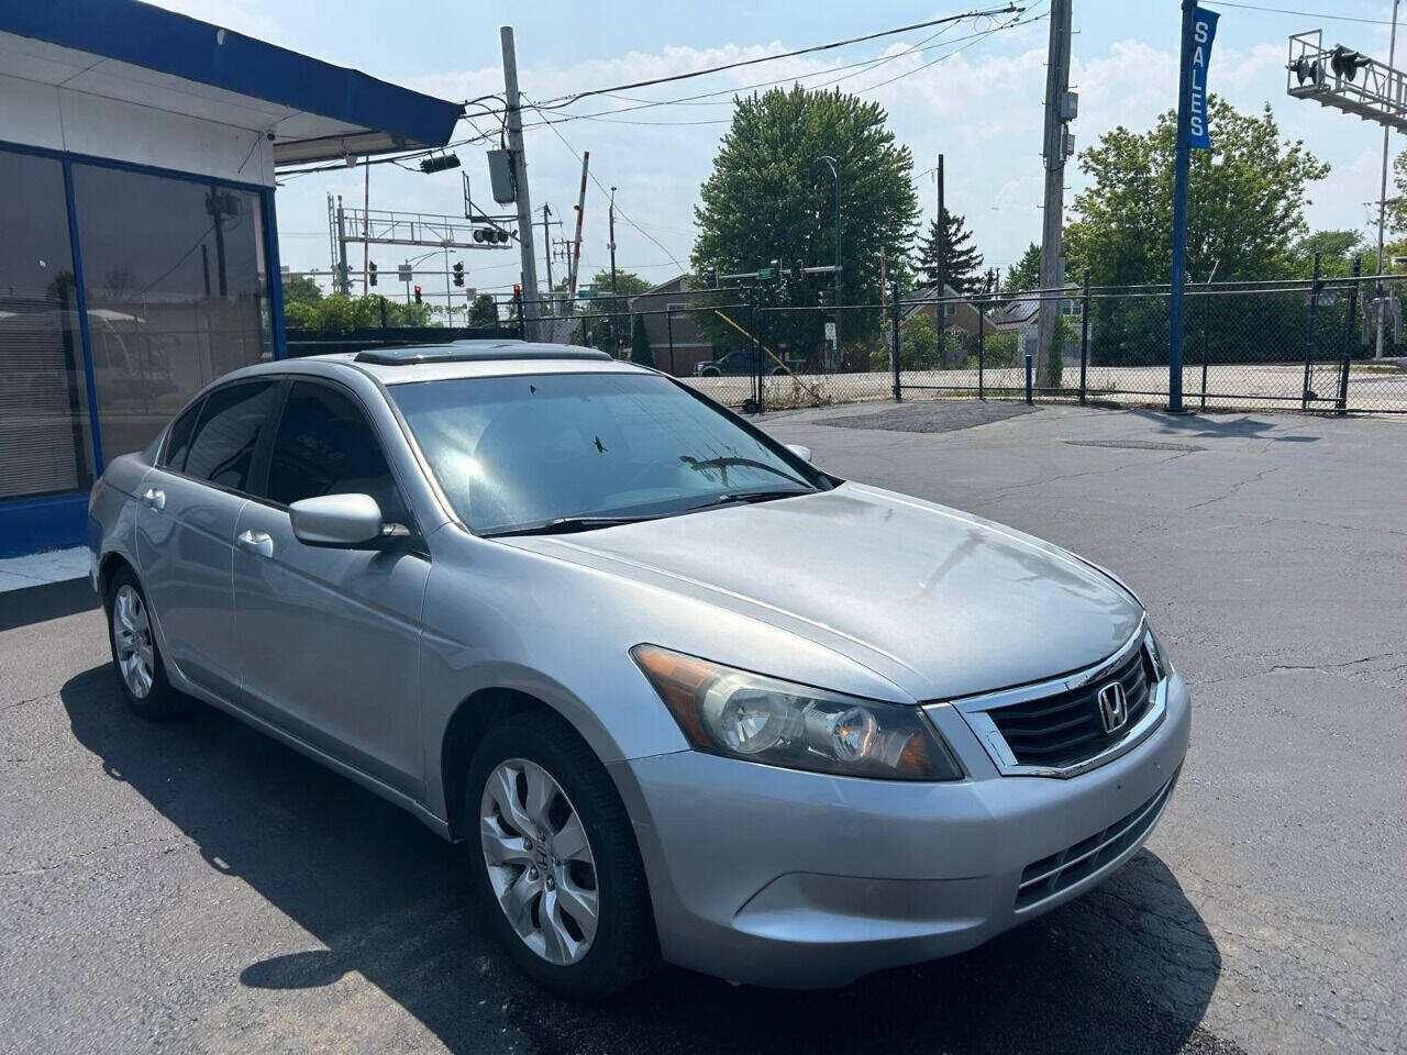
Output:
<svg viewBox="0 0 1407 1055">
<path fill-rule="evenodd" d="M 136 0 L 0 4 L 0 30 L 429 146 L 461 107 Z"/>
</svg>

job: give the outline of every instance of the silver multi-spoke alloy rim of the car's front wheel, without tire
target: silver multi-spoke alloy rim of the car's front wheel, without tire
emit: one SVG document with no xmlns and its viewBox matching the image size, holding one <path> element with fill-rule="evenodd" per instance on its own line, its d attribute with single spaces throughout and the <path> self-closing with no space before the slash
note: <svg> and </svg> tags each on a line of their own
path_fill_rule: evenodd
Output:
<svg viewBox="0 0 1407 1055">
<path fill-rule="evenodd" d="M 523 944 L 559 966 L 585 957 L 601 912 L 597 862 L 561 785 L 526 758 L 499 762 L 478 831 L 488 882 Z"/>
</svg>

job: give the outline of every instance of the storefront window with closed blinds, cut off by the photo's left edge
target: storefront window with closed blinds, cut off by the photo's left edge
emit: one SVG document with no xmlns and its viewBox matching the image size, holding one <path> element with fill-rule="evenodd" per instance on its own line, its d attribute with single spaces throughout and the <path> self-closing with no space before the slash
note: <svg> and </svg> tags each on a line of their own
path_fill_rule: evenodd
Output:
<svg viewBox="0 0 1407 1055">
<path fill-rule="evenodd" d="M 0 499 L 93 482 L 63 166 L 0 151 Z"/>
</svg>

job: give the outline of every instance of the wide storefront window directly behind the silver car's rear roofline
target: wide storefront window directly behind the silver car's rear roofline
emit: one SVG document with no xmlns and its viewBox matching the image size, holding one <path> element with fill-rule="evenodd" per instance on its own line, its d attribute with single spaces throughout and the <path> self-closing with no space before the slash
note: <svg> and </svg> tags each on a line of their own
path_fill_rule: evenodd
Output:
<svg viewBox="0 0 1407 1055">
<path fill-rule="evenodd" d="M 207 383 L 273 357 L 263 208 L 212 183 L 73 165 L 107 459 Z"/>
</svg>

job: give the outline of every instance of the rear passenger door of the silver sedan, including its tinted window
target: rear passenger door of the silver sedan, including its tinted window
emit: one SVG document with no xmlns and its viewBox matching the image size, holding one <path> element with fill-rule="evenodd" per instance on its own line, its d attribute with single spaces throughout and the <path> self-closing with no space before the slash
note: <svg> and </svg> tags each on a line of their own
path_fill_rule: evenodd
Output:
<svg viewBox="0 0 1407 1055">
<path fill-rule="evenodd" d="M 138 499 L 136 560 L 167 663 L 225 699 L 239 691 L 235 525 L 270 439 L 281 384 L 238 381 L 172 425 Z"/>
</svg>

